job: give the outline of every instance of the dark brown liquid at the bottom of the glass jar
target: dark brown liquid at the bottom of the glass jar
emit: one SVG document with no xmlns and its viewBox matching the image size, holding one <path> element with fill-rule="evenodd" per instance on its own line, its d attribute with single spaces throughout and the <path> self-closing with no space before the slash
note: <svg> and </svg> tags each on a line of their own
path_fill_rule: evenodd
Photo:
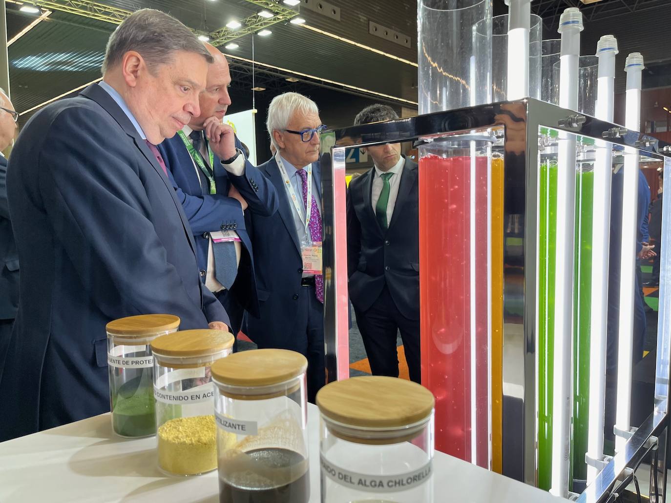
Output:
<svg viewBox="0 0 671 503">
<path fill-rule="evenodd" d="M 278 448 L 256 449 L 242 456 L 246 462 L 233 458 L 222 466 L 219 461 L 219 503 L 308 503 L 310 478 L 305 457 Z M 259 469 L 249 469 L 254 465 Z M 286 480 L 291 482 L 282 484 Z"/>
</svg>

